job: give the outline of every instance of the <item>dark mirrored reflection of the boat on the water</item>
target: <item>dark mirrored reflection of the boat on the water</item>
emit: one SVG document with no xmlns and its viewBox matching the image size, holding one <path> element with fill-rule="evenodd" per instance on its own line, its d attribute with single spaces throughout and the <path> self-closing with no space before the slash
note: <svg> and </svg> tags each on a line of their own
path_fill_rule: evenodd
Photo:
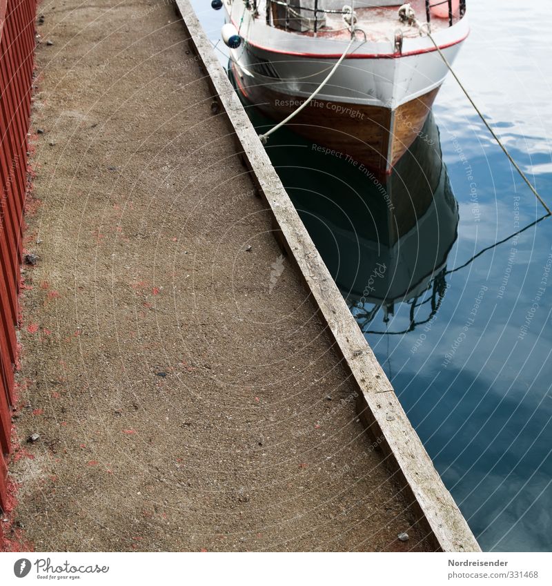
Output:
<svg viewBox="0 0 552 586">
<path fill-rule="evenodd" d="M 433 116 L 382 177 L 292 137 L 280 137 L 268 153 L 361 329 L 404 333 L 431 320 L 446 291 L 459 219 Z M 398 304 L 409 307 L 388 324 Z"/>
</svg>

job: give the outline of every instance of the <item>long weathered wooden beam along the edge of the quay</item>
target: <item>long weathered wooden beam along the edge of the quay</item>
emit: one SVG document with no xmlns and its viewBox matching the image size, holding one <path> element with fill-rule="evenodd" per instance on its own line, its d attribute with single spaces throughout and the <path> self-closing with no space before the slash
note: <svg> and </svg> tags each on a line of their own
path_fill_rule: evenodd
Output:
<svg viewBox="0 0 552 586">
<path fill-rule="evenodd" d="M 244 163 L 272 210 L 281 244 L 295 260 L 358 384 L 357 409 L 364 424 L 372 436 L 384 438 L 387 459 L 417 502 L 439 547 L 443 551 L 481 551 L 295 211 L 193 8 L 188 0 L 176 0 L 176 9 L 206 70 L 213 96 L 235 131 Z"/>
</svg>

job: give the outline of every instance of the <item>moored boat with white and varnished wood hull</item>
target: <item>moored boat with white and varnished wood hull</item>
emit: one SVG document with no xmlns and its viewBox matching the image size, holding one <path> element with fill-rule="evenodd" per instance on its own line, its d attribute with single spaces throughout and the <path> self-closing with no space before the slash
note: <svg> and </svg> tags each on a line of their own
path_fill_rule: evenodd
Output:
<svg viewBox="0 0 552 586">
<path fill-rule="evenodd" d="M 239 92 L 281 121 L 319 90 L 290 128 L 382 173 L 420 134 L 448 72 L 433 40 L 452 63 L 469 34 L 465 0 L 222 3 Z"/>
</svg>

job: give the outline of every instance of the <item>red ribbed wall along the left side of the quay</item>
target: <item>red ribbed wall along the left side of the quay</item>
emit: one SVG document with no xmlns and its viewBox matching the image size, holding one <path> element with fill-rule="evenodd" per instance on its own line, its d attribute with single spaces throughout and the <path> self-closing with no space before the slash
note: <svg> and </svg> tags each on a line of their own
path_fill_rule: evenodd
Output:
<svg viewBox="0 0 552 586">
<path fill-rule="evenodd" d="M 17 360 L 17 296 L 27 187 L 36 0 L 0 0 L 0 507 L 5 507 Z"/>
</svg>

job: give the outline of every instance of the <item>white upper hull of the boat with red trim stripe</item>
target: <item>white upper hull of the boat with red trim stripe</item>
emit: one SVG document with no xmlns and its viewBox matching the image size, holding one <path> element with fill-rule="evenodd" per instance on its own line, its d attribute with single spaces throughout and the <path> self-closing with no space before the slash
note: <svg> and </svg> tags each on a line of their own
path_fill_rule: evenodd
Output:
<svg viewBox="0 0 552 586">
<path fill-rule="evenodd" d="M 243 1 L 224 0 L 224 7 L 227 21 L 236 26 L 245 41 L 239 48 L 230 50 L 230 56 L 250 77 L 248 85 L 270 84 L 278 92 L 306 98 L 328 75 L 348 45 L 348 39 L 308 36 L 267 25 L 266 19 L 260 16 L 266 10 L 264 0 L 259 3 L 257 18 Z M 449 63 L 453 63 L 468 34 L 469 24 L 464 16 L 452 27 L 437 30 L 433 36 Z M 262 75 L 257 67 L 259 61 L 268 61 L 277 78 Z M 318 97 L 394 110 L 438 88 L 447 73 L 446 65 L 426 36 L 404 37 L 400 55 L 395 51 L 394 39 L 364 41 L 359 36 Z"/>
</svg>

